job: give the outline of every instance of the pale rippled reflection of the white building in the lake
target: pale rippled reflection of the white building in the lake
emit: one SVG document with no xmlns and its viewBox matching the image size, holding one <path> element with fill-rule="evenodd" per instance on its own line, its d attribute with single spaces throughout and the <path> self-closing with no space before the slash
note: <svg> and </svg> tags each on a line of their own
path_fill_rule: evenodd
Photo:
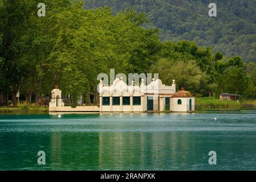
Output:
<svg viewBox="0 0 256 182">
<path fill-rule="evenodd" d="M 133 118 L 134 114 L 125 114 L 125 118 Z M 119 122 L 119 117 L 112 116 Z M 174 169 L 188 163 L 193 165 L 191 158 L 196 147 L 193 134 L 157 129 L 147 131 L 139 123 L 131 122 L 131 125 L 133 127 L 129 122 L 120 121 L 118 130 L 99 133 L 99 169 Z M 139 128 L 134 129 L 134 125 Z"/>
</svg>

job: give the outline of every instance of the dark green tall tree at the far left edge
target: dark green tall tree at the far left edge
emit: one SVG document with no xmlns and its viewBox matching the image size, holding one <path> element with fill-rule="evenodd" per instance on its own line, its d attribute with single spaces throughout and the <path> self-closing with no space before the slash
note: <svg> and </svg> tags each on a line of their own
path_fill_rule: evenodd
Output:
<svg viewBox="0 0 256 182">
<path fill-rule="evenodd" d="M 16 94 L 18 92 L 21 79 L 27 74 L 27 62 L 20 59 L 22 56 L 21 49 L 26 47 L 22 41 L 22 35 L 27 30 L 25 23 L 32 12 L 32 2 L 27 1 L 1 1 L 0 16 L 2 34 L 2 75 L 5 79 L 6 97 L 11 91 L 13 105 L 17 105 Z M 8 103 L 8 99 L 6 104 Z"/>
</svg>

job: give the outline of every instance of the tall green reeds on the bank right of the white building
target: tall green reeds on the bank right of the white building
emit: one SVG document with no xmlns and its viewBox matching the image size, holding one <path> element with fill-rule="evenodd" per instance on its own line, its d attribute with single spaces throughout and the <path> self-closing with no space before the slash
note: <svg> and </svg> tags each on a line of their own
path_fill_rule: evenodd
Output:
<svg viewBox="0 0 256 182">
<path fill-rule="evenodd" d="M 196 98 L 196 110 L 239 110 L 241 103 L 236 101 L 221 101 L 213 97 Z"/>
</svg>

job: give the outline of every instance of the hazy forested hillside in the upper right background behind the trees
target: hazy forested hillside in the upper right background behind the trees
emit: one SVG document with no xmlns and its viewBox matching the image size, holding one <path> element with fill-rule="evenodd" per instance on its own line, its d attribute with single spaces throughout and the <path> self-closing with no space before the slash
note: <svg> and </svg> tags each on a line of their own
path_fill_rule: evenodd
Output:
<svg viewBox="0 0 256 182">
<path fill-rule="evenodd" d="M 85 0 L 86 9 L 109 6 L 114 12 L 133 7 L 145 12 L 161 40 L 194 40 L 225 56 L 256 61 L 256 0 L 216 0 L 217 17 L 208 16 L 207 0 Z"/>
</svg>

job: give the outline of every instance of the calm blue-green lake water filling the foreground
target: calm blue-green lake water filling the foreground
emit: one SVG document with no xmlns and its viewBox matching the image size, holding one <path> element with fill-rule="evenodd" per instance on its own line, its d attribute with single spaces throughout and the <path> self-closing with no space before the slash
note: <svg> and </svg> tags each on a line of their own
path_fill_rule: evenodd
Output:
<svg viewBox="0 0 256 182">
<path fill-rule="evenodd" d="M 0 115 L 0 169 L 255 170 L 256 112 Z"/>
</svg>

